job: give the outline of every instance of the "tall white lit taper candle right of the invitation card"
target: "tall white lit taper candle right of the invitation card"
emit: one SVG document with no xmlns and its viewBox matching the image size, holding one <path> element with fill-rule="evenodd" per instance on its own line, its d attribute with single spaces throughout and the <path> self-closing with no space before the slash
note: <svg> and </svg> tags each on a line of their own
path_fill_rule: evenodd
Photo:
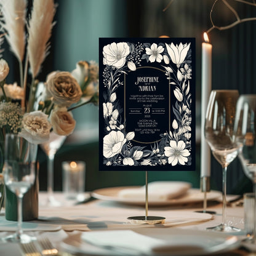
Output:
<svg viewBox="0 0 256 256">
<path fill-rule="evenodd" d="M 204 138 L 206 108 L 212 90 L 212 44 L 207 33 L 202 42 L 202 88 L 201 88 L 201 177 L 210 177 L 210 148 Z"/>
</svg>

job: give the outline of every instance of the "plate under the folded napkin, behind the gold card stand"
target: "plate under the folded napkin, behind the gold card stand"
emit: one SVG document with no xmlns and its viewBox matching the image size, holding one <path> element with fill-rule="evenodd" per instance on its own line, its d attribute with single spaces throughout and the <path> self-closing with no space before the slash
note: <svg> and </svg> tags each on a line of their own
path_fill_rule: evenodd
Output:
<svg viewBox="0 0 256 256">
<path fill-rule="evenodd" d="M 107 201 L 114 201 L 114 202 L 122 202 L 124 204 L 133 204 L 133 205 L 144 205 L 145 200 L 139 198 L 134 199 L 127 199 L 127 198 L 120 198 L 118 196 L 119 191 L 125 190 L 127 188 L 140 188 L 140 186 L 116 186 L 113 188 L 100 188 L 98 190 L 94 190 L 92 192 L 92 196 L 97 199 L 107 200 Z M 222 196 L 220 191 L 211 190 L 207 193 L 207 200 L 213 201 L 217 200 Z M 167 200 L 158 200 L 152 201 L 150 196 L 148 198 L 148 204 L 150 206 L 171 206 L 175 204 L 188 204 L 191 202 L 202 202 L 204 200 L 204 193 L 197 188 L 191 188 L 188 190 L 184 196 L 175 199 L 167 199 Z"/>
</svg>

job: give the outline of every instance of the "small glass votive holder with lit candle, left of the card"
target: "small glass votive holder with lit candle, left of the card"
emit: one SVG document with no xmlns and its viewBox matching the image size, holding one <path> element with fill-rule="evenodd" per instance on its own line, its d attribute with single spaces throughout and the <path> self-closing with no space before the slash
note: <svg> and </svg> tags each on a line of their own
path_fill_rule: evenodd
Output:
<svg viewBox="0 0 256 256">
<path fill-rule="evenodd" d="M 82 201 L 84 198 L 84 184 L 86 177 L 86 162 L 62 162 L 63 192 L 69 200 Z"/>
</svg>

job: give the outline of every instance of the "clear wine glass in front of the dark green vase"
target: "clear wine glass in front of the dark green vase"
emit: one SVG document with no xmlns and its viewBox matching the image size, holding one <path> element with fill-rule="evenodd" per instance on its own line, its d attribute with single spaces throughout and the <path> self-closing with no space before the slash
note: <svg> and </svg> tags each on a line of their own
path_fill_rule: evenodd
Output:
<svg viewBox="0 0 256 256">
<path fill-rule="evenodd" d="M 4 183 L 17 196 L 18 226 L 15 234 L 1 238 L 6 242 L 30 242 L 36 239 L 22 231 L 22 200 L 35 180 L 36 145 L 18 134 L 6 134 L 4 157 Z"/>
</svg>

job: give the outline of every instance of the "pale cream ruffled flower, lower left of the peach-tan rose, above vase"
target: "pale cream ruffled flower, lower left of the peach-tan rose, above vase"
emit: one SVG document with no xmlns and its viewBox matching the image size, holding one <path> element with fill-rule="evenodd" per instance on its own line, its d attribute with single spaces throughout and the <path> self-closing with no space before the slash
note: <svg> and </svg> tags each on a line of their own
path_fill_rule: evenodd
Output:
<svg viewBox="0 0 256 256">
<path fill-rule="evenodd" d="M 34 144 L 46 142 L 49 140 L 50 128 L 52 127 L 47 118 L 47 114 L 41 111 L 24 114 L 20 135 Z"/>
</svg>

